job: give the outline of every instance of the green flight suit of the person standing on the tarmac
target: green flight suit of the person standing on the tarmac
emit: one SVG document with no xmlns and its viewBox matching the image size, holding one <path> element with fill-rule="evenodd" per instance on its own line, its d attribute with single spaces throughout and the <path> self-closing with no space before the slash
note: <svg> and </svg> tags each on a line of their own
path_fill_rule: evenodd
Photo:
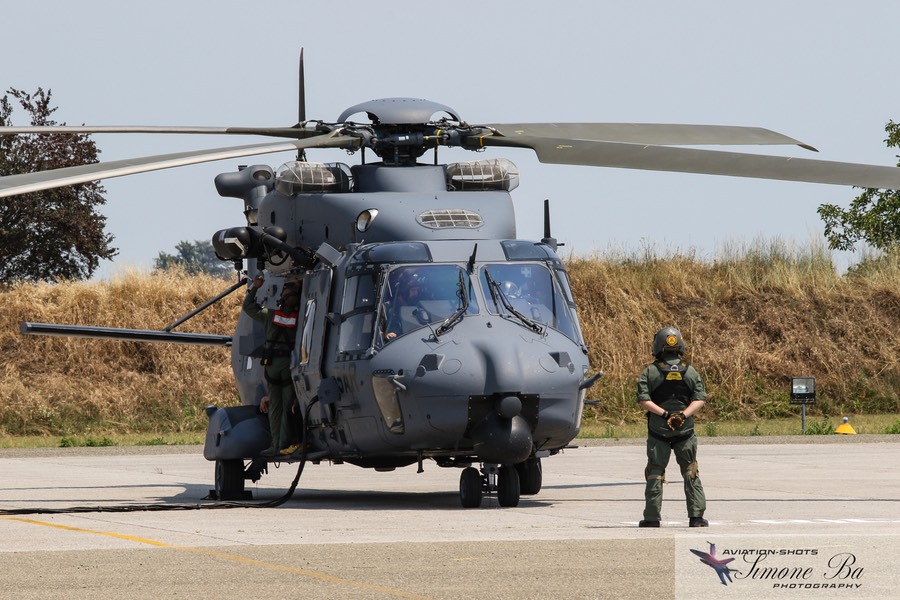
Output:
<svg viewBox="0 0 900 600">
<path fill-rule="evenodd" d="M 637 399 L 652 400 L 670 413 L 682 411 L 694 400 L 706 400 L 706 387 L 700 374 L 681 357 L 664 355 L 663 360 L 647 366 L 637 382 Z M 647 487 L 644 519 L 659 521 L 662 512 L 663 483 L 669 458 L 675 460 L 684 477 L 684 495 L 688 517 L 702 517 L 706 511 L 706 495 L 697 467 L 697 436 L 694 419 L 673 431 L 659 415 L 647 416 L 647 468 L 644 475 Z"/>
</svg>

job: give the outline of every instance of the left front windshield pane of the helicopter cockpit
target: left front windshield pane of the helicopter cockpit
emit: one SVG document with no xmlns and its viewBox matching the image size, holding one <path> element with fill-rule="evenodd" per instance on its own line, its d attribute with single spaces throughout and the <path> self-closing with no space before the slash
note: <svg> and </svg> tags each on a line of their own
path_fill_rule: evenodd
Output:
<svg viewBox="0 0 900 600">
<path fill-rule="evenodd" d="M 469 274 L 458 265 L 398 267 L 386 277 L 379 321 L 383 341 L 426 325 L 441 325 L 464 314 L 477 314 Z M 448 321 L 449 320 L 449 321 Z"/>
</svg>

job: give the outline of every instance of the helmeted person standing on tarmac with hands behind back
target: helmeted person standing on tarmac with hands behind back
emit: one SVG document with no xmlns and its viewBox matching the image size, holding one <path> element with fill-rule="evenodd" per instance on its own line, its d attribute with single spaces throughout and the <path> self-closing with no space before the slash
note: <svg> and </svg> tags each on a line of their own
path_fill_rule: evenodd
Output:
<svg viewBox="0 0 900 600">
<path fill-rule="evenodd" d="M 681 467 L 691 527 L 708 527 L 703 518 L 706 496 L 697 467 L 697 436 L 693 415 L 706 402 L 700 374 L 684 361 L 681 332 L 666 327 L 653 337 L 656 360 L 638 377 L 637 401 L 647 411 L 646 504 L 640 527 L 659 527 L 663 483 L 671 453 Z"/>
</svg>

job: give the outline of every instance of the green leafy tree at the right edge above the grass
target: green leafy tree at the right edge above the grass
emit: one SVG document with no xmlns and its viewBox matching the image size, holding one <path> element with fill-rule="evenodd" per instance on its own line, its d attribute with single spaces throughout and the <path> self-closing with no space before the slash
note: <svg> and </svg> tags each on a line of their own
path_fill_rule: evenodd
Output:
<svg viewBox="0 0 900 600">
<path fill-rule="evenodd" d="M 900 124 L 889 121 L 884 130 L 888 147 L 900 148 Z M 857 196 L 847 210 L 823 204 L 818 212 L 825 222 L 828 245 L 834 250 L 853 250 L 860 241 L 879 250 L 900 244 L 900 191 L 870 188 Z"/>
</svg>

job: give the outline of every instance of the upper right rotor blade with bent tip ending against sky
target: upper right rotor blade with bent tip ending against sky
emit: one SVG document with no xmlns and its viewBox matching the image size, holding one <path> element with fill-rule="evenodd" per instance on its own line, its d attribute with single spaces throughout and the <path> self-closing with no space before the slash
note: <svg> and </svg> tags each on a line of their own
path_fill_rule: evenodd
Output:
<svg viewBox="0 0 900 600">
<path fill-rule="evenodd" d="M 656 146 L 788 144 L 818 152 L 809 144 L 761 127 L 664 123 L 503 123 L 488 127 L 508 138 L 552 137 Z"/>
</svg>

